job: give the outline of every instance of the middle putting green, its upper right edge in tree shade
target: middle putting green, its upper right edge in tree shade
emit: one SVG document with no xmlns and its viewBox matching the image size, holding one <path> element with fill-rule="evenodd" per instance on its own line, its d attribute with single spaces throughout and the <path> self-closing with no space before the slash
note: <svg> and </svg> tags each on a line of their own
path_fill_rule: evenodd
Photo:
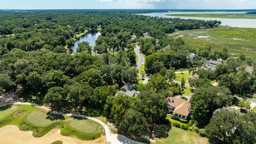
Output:
<svg viewBox="0 0 256 144">
<path fill-rule="evenodd" d="M 54 123 L 46 117 L 47 115 L 43 111 L 31 111 L 26 117 L 26 122 L 36 127 L 45 127 Z"/>
</svg>

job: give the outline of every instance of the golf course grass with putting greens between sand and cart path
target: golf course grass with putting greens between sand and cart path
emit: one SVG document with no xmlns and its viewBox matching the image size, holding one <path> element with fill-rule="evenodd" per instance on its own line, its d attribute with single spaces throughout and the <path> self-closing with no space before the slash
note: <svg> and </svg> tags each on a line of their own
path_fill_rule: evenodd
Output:
<svg viewBox="0 0 256 144">
<path fill-rule="evenodd" d="M 62 135 L 77 137 L 82 140 L 100 138 L 104 132 L 99 123 L 89 119 L 46 114 L 33 106 L 14 105 L 0 108 L 0 127 L 17 125 L 20 130 L 33 131 L 34 137 L 42 137 L 54 128 L 60 129 Z"/>
</svg>

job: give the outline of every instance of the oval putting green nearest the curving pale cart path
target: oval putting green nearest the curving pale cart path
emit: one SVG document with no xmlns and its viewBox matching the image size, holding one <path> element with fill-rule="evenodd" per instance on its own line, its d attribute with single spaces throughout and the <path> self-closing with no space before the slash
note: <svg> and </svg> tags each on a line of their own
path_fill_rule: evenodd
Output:
<svg viewBox="0 0 256 144">
<path fill-rule="evenodd" d="M 100 124 L 91 121 L 90 119 L 74 119 L 74 121 L 71 121 L 69 125 L 83 133 L 101 133 L 103 130 Z"/>
</svg>

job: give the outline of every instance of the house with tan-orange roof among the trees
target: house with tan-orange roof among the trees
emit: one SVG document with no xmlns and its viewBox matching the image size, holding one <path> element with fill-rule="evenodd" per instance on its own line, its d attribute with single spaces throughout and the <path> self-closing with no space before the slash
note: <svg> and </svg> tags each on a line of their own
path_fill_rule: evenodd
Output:
<svg viewBox="0 0 256 144">
<path fill-rule="evenodd" d="M 183 100 L 180 97 L 168 97 L 167 102 L 169 111 L 172 112 L 174 116 L 187 119 L 191 114 L 192 105 L 187 100 Z"/>
</svg>

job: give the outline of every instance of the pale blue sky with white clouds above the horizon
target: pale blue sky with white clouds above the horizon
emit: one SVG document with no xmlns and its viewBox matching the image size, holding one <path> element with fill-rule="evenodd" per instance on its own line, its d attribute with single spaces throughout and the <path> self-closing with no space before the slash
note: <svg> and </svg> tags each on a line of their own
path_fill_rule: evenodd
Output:
<svg viewBox="0 0 256 144">
<path fill-rule="evenodd" d="M 256 9 L 256 0 L 0 0 L 0 9 Z"/>
</svg>

